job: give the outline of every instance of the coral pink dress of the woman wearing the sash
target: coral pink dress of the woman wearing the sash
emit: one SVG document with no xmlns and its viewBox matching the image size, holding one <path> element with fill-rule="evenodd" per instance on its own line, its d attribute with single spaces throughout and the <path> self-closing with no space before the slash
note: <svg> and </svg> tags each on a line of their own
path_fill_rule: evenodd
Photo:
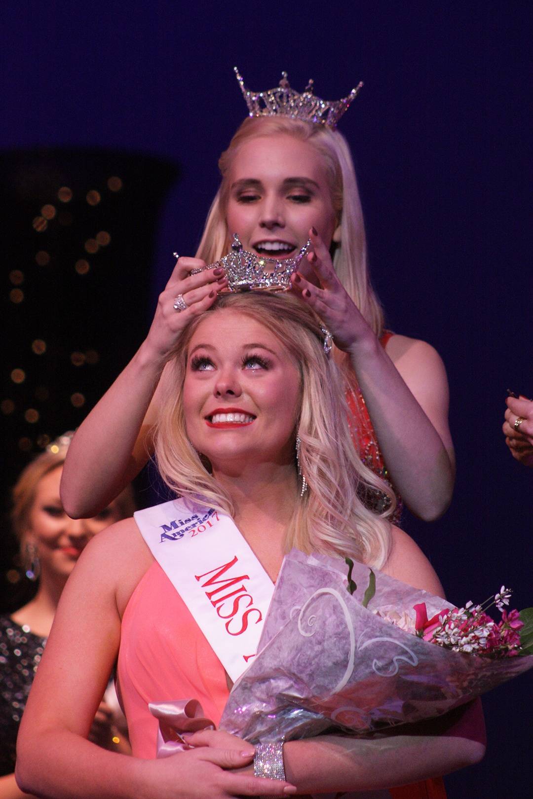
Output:
<svg viewBox="0 0 533 799">
<path fill-rule="evenodd" d="M 125 608 L 117 687 L 133 755 L 156 757 L 158 721 L 149 702 L 197 699 L 216 725 L 229 696 L 224 666 L 157 562 Z M 392 799 L 445 799 L 442 780 L 390 789 Z M 363 794 L 364 796 L 364 794 Z"/>
</svg>

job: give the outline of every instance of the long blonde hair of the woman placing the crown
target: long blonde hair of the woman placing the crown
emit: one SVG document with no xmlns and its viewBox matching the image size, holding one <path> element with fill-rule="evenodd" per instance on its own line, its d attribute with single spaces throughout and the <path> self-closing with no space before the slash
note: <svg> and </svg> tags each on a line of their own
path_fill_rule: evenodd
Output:
<svg viewBox="0 0 533 799">
<path fill-rule="evenodd" d="M 332 205 L 340 222 L 340 243 L 332 245 L 333 265 L 341 283 L 368 325 L 376 336 L 381 336 L 384 314 L 368 273 L 363 211 L 352 154 L 348 142 L 342 133 L 336 130 L 289 117 L 245 119 L 218 162 L 222 182 L 205 222 L 197 258 L 203 258 L 209 264 L 221 258 L 229 250 L 229 234 L 233 233 L 228 230 L 225 221 L 229 196 L 229 171 L 238 149 L 249 139 L 272 136 L 276 133 L 285 133 L 299 141 L 307 141 L 324 158 Z"/>
</svg>

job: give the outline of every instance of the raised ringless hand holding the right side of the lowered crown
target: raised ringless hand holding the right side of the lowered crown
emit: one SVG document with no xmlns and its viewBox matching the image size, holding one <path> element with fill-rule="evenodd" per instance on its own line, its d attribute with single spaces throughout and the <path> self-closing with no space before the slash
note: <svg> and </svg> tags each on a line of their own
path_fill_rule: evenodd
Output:
<svg viewBox="0 0 533 799">
<path fill-rule="evenodd" d="M 336 346 L 348 351 L 357 340 L 372 336 L 372 331 L 336 276 L 324 241 L 313 228 L 309 231 L 309 237 L 312 252 L 308 253 L 307 260 L 320 285 L 316 286 L 296 272 L 291 278 L 292 288 L 320 316 Z"/>
</svg>

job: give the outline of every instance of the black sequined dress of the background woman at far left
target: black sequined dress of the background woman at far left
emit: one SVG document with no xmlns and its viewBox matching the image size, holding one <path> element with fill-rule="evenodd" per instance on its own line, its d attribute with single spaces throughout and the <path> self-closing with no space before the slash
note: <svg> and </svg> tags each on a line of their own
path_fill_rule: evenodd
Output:
<svg viewBox="0 0 533 799">
<path fill-rule="evenodd" d="M 0 776 L 15 769 L 18 725 L 42 658 L 46 638 L 0 616 Z"/>
</svg>

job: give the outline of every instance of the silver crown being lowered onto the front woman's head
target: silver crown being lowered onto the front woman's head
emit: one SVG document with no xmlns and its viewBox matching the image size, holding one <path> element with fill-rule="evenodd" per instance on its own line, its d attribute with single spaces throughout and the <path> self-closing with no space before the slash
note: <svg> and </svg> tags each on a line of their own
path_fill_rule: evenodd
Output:
<svg viewBox="0 0 533 799">
<path fill-rule="evenodd" d="M 291 275 L 296 272 L 300 260 L 304 258 L 311 248 L 311 241 L 300 249 L 292 258 L 276 260 L 265 258 L 243 249 L 237 233 L 233 234 L 231 251 L 221 260 L 215 261 L 201 269 L 191 269 L 191 275 L 204 272 L 205 269 L 221 267 L 228 278 L 228 288 L 222 292 L 245 292 L 263 290 L 269 292 L 286 292 L 291 288 Z"/>
</svg>

